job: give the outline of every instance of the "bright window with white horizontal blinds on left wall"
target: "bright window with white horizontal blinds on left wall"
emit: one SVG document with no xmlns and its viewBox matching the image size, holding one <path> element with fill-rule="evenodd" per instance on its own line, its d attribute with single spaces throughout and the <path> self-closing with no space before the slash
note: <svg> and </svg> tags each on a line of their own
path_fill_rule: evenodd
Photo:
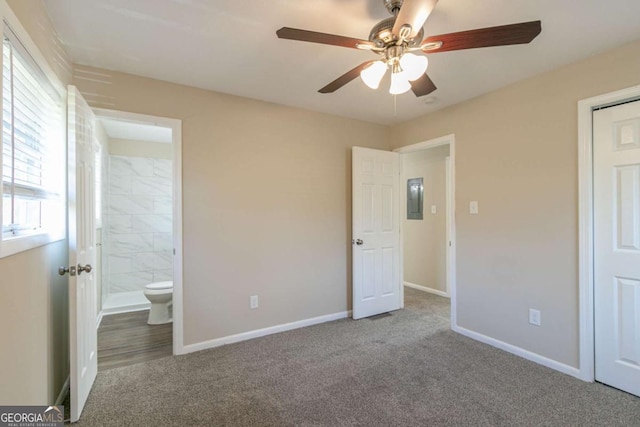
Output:
<svg viewBox="0 0 640 427">
<path fill-rule="evenodd" d="M 62 96 L 5 23 L 2 256 L 64 237 L 63 129 Z M 34 239 L 34 236 L 40 237 Z M 20 249 L 6 249 L 9 242 L 18 240 L 22 242 L 14 246 Z"/>
</svg>

